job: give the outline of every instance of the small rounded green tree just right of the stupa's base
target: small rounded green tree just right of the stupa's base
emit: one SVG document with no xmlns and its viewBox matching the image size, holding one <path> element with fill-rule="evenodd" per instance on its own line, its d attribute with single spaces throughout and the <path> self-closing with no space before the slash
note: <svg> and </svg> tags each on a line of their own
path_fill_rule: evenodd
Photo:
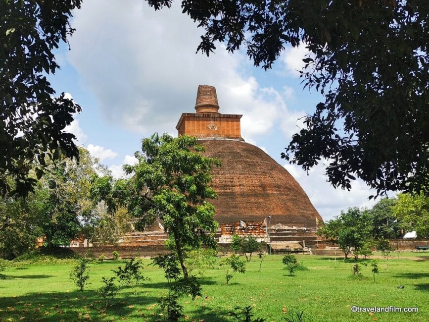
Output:
<svg viewBox="0 0 429 322">
<path fill-rule="evenodd" d="M 347 259 L 353 249 L 355 260 L 365 242 L 371 237 L 372 218 L 368 211 L 360 211 L 359 208 L 349 208 L 347 212 L 341 212 L 339 217 L 330 220 L 318 231 L 319 235 L 333 238 L 344 252 Z"/>
</svg>

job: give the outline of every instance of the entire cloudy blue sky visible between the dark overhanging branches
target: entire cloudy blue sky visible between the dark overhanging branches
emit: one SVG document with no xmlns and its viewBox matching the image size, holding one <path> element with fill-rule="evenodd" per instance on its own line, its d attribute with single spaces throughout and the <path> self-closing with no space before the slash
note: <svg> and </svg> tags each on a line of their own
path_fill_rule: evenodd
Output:
<svg viewBox="0 0 429 322">
<path fill-rule="evenodd" d="M 350 192 L 335 190 L 322 165 L 307 176 L 280 159 L 301 126 L 298 118 L 323 100 L 302 90 L 296 70 L 305 48 L 287 49 L 269 71 L 222 44 L 210 57 L 195 54 L 203 31 L 178 4 L 155 12 L 143 0 L 91 0 L 74 12 L 71 50 L 64 45 L 56 52 L 61 69 L 49 80 L 82 107 L 69 127 L 78 143 L 121 176 L 141 139 L 155 131 L 177 135 L 181 113 L 194 111 L 198 85 L 212 85 L 219 111 L 243 114 L 244 139 L 285 166 L 325 220 L 348 207 L 371 207 L 373 193 L 363 182 L 353 182 Z"/>
</svg>

